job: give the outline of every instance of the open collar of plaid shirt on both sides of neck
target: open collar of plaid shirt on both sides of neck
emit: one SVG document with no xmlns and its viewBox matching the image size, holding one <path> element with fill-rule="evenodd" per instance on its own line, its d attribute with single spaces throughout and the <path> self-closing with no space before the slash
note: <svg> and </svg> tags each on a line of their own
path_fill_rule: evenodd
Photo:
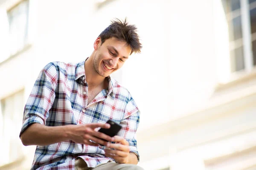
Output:
<svg viewBox="0 0 256 170">
<path fill-rule="evenodd" d="M 87 59 L 88 59 L 88 58 L 89 58 L 89 57 L 87 57 Z M 79 79 L 80 77 L 83 77 L 83 76 L 84 76 L 84 79 L 85 79 L 84 62 L 85 62 L 87 59 L 85 59 L 85 60 L 79 62 L 79 63 L 76 65 L 75 80 L 77 80 L 77 79 Z M 108 93 L 108 95 L 110 95 L 111 97 L 114 97 L 114 96 L 115 96 L 115 91 L 114 91 L 114 88 L 113 88 L 114 82 L 115 82 L 115 80 L 114 80 L 113 78 L 111 78 L 110 76 L 108 76 L 108 89 L 107 89 L 107 93 Z"/>
</svg>

